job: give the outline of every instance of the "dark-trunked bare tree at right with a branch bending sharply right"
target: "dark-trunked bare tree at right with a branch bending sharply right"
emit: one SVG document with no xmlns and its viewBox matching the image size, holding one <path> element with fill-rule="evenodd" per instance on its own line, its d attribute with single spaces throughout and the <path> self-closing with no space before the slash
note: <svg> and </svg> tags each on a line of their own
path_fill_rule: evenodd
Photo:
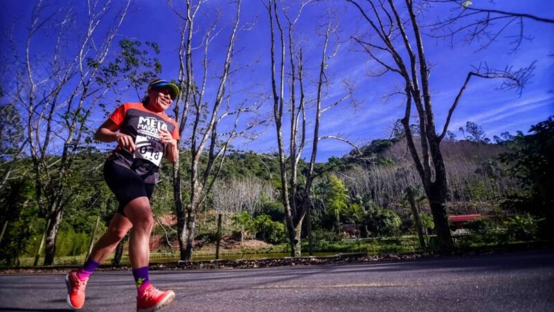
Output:
<svg viewBox="0 0 554 312">
<path fill-rule="evenodd" d="M 507 67 L 504 70 L 496 70 L 485 65 L 467 73 L 465 83 L 450 106 L 443 131 L 438 133 L 431 101 L 430 69 L 413 0 L 404 0 L 402 6 L 408 16 L 406 21 L 402 20 L 402 15 L 397 9 L 400 5 L 393 0 L 368 0 L 363 4 L 356 0 L 346 1 L 357 8 L 361 19 L 373 33 L 373 37 L 370 38 L 354 36 L 352 39 L 368 53 L 370 58 L 383 67 L 382 73 L 395 73 L 404 82 L 402 94 L 406 96 L 406 104 L 401 122 L 404 126 L 406 142 L 429 199 L 438 244 L 443 250 L 452 249 L 454 241 L 450 235 L 446 210 L 447 175 L 443 153 L 440 150 L 440 141 L 446 135 L 452 114 L 472 77 L 501 78 L 506 89 L 521 89 L 530 77 L 534 66 L 532 64 L 523 69 L 515 70 Z M 412 47 L 414 43 L 415 49 Z M 408 60 L 405 60 L 406 56 Z M 420 125 L 418 134 L 413 133 L 410 127 L 412 105 L 415 105 Z M 414 135 L 420 137 L 420 153 L 415 148 Z"/>
</svg>

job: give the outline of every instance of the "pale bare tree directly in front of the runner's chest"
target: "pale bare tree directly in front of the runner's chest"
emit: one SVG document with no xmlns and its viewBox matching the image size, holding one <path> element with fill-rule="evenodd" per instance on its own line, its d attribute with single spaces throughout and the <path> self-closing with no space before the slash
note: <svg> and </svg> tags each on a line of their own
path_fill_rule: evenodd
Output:
<svg viewBox="0 0 554 312">
<path fill-rule="evenodd" d="M 235 18 L 231 26 L 231 33 L 226 44 L 226 53 L 221 72 L 217 73 L 214 87 L 217 90 L 211 104 L 205 99 L 206 85 L 212 83 L 208 79 L 208 53 L 211 42 L 220 35 L 217 31 L 219 18 L 215 19 L 208 28 L 202 43 L 199 46 L 193 46 L 193 37 L 195 34 L 195 19 L 199 9 L 204 3 L 199 0 L 196 3 L 186 1 L 186 13 L 181 14 L 174 8 L 176 14 L 184 21 L 181 31 L 181 45 L 179 48 L 179 84 L 183 92 L 175 106 L 175 116 L 179 123 L 179 132 L 183 137 L 186 128 L 189 126 L 187 121 L 190 116 L 190 141 L 185 142 L 190 150 L 190 164 L 188 164 L 188 173 L 190 174 L 188 192 L 189 200 L 184 205 L 182 199 L 183 182 L 182 168 L 175 164 L 173 168 L 173 185 L 175 197 L 175 212 L 177 214 L 177 230 L 179 238 L 179 250 L 181 260 L 190 261 L 193 257 L 193 241 L 195 238 L 195 223 L 197 212 L 206 196 L 210 193 L 213 183 L 217 180 L 220 169 L 223 165 L 227 148 L 233 139 L 245 136 L 248 137 L 250 131 L 257 125 L 258 121 L 251 121 L 247 125 L 240 123 L 240 116 L 246 112 L 256 111 L 257 101 L 249 103 L 242 101 L 232 105 L 232 84 L 231 62 L 235 55 L 235 41 L 239 31 L 248 28 L 240 26 L 240 8 L 241 1 L 236 1 Z M 203 48 L 203 49 L 201 49 Z M 199 51 L 197 53 L 193 53 Z M 202 75 L 200 78 L 195 76 L 193 70 L 194 60 L 201 60 Z M 234 101 L 236 101 L 233 98 Z M 234 118 L 230 129 L 218 131 L 218 126 L 224 119 Z M 181 144 L 183 146 L 185 144 Z M 206 152 L 205 152 L 206 150 Z"/>
</svg>

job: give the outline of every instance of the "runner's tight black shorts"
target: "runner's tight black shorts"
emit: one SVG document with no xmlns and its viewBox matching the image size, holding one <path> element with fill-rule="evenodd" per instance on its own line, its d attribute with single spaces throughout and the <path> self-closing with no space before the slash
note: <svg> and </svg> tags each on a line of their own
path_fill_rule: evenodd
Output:
<svg viewBox="0 0 554 312">
<path fill-rule="evenodd" d="M 104 180 L 119 202 L 117 212 L 123 216 L 123 209 L 131 200 L 139 197 L 150 200 L 156 187 L 156 184 L 145 183 L 143 177 L 130 168 L 116 164 L 114 159 L 107 159 L 104 163 Z"/>
</svg>

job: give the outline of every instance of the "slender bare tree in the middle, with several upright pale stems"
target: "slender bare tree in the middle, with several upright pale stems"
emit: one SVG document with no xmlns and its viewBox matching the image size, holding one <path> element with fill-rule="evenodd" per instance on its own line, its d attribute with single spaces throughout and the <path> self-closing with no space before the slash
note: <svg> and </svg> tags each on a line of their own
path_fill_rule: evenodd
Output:
<svg viewBox="0 0 554 312">
<path fill-rule="evenodd" d="M 311 1 L 303 1 L 298 8 L 296 17 L 291 18 L 287 15 L 287 12 L 282 10 L 278 6 L 278 1 L 270 0 L 267 4 L 264 4 L 269 13 L 269 25 L 271 30 L 271 87 L 273 95 L 273 112 L 274 121 L 277 132 L 277 145 L 278 145 L 278 160 L 280 165 L 280 182 L 281 182 L 281 200 L 285 207 L 285 218 L 287 223 L 287 229 L 289 232 L 289 243 L 291 246 L 292 257 L 301 256 L 301 228 L 304 218 L 310 218 L 310 189 L 314 179 L 314 165 L 317 157 L 317 148 L 321 139 L 341 139 L 339 136 L 328 135 L 321 137 L 319 134 L 319 126 L 321 122 L 321 114 L 332 107 L 335 107 L 347 98 L 352 98 L 352 89 L 349 89 L 346 96 L 340 98 L 334 103 L 330 103 L 326 106 L 323 105 L 323 98 L 325 97 L 324 89 L 328 85 L 327 76 L 325 73 L 328 67 L 328 62 L 338 51 L 339 40 L 336 40 L 332 48 L 332 52 L 328 51 L 330 45 L 330 37 L 337 35 L 337 26 L 332 21 L 332 12 L 328 9 L 327 14 L 328 21 L 323 26 L 323 44 L 321 46 L 321 59 L 318 64 L 318 76 L 316 78 L 316 95 L 314 99 L 314 123 L 313 123 L 313 138 L 312 138 L 312 153 L 310 155 L 310 164 L 308 165 L 308 172 L 304 185 L 299 185 L 297 181 L 297 168 L 300 157 L 305 148 L 305 136 L 307 127 L 307 109 L 305 100 L 305 70 L 303 60 L 303 50 L 301 47 L 295 46 L 293 38 L 294 24 L 298 21 L 301 12 L 305 6 Z M 281 19 L 284 16 L 288 21 L 288 42 L 285 42 L 285 30 Z M 274 26 L 274 24 L 276 26 Z M 276 40 L 276 30 L 278 39 Z M 276 51 L 275 47 L 280 47 L 279 51 L 279 69 L 276 73 Z M 285 56 L 288 55 L 288 60 L 285 60 Z M 290 64 L 289 73 L 289 92 L 288 99 L 285 101 L 285 62 Z M 296 92 L 296 85 L 300 88 L 300 95 Z M 298 98 L 299 101 L 298 101 Z M 298 102 L 297 102 L 298 101 Z M 285 144 L 283 141 L 283 116 L 285 110 L 285 103 L 289 105 L 290 114 L 290 144 L 289 155 L 285 155 Z M 298 103 L 298 105 L 296 104 Z M 301 121 L 301 124 L 299 122 Z M 299 138 L 299 142 L 297 141 Z M 344 139 L 341 139 L 346 141 Z M 288 158 L 288 159 L 287 159 Z M 287 161 L 290 166 L 290 177 L 287 178 Z M 290 193 L 289 193 L 290 190 Z M 311 242 L 310 220 L 308 220 L 308 236 Z M 310 244 L 311 245 L 311 244 Z M 311 253 L 311 248 L 310 248 Z"/>
</svg>

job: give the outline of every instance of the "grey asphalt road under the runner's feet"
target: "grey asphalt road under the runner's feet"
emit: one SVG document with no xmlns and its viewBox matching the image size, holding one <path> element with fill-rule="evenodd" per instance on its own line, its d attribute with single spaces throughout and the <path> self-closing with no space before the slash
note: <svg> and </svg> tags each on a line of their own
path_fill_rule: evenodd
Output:
<svg viewBox="0 0 554 312">
<path fill-rule="evenodd" d="M 554 311 L 554 250 L 249 270 L 151 272 L 163 311 Z M 96 272 L 82 311 L 134 311 L 131 272 Z M 69 311 L 64 275 L 0 275 L 0 311 Z"/>
</svg>

